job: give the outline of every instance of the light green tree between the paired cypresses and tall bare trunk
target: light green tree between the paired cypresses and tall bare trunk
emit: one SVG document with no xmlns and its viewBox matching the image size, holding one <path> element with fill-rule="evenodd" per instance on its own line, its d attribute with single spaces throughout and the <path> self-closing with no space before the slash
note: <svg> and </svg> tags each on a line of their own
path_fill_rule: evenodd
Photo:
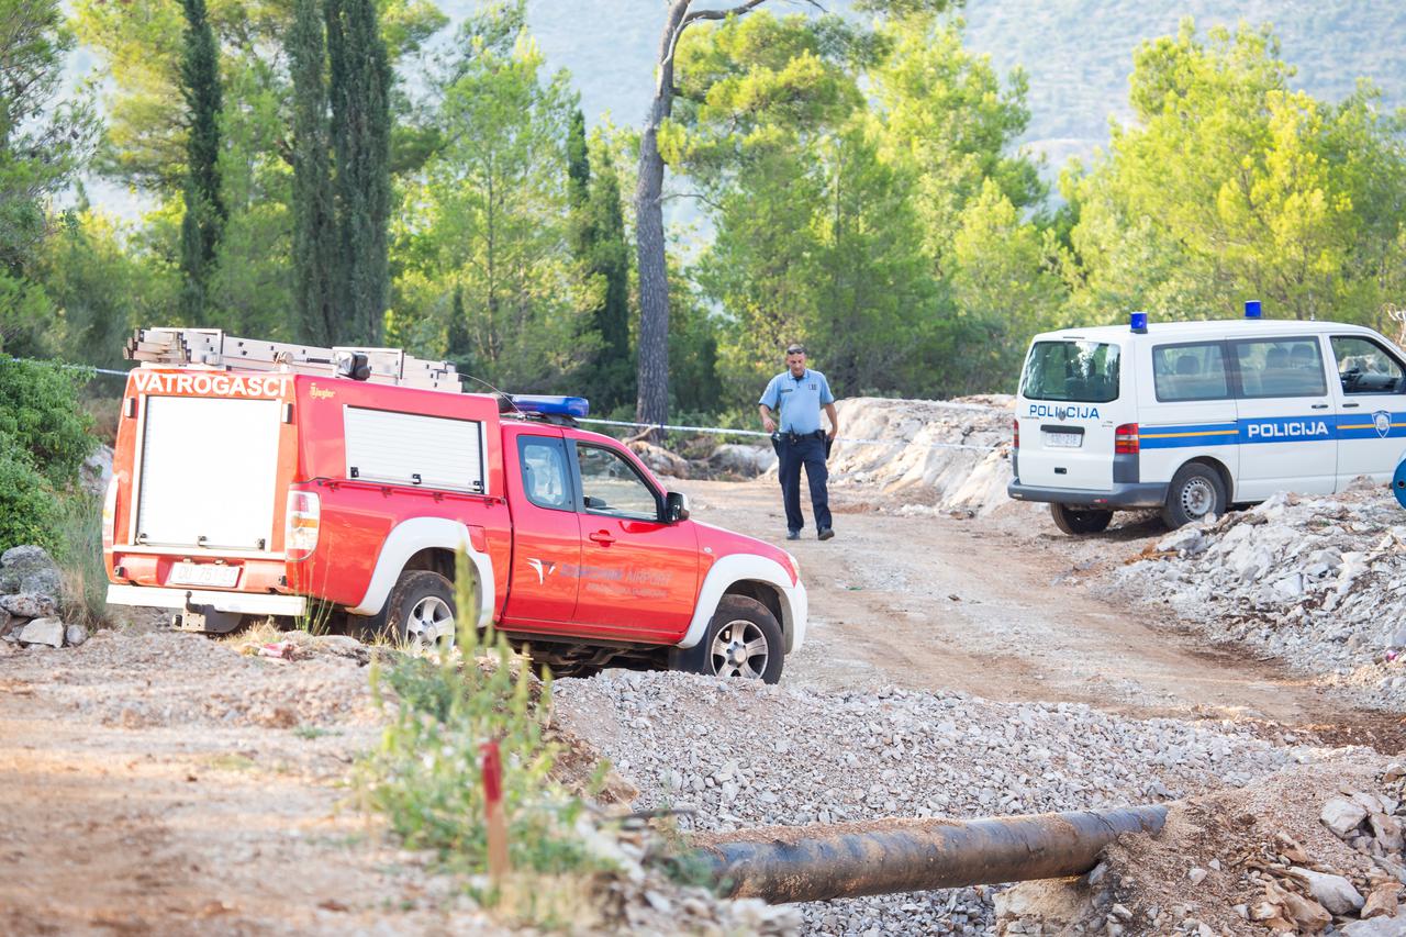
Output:
<svg viewBox="0 0 1406 937">
<path fill-rule="evenodd" d="M 505 390 L 574 390 L 599 345 L 600 288 L 571 249 L 567 75 L 544 75 L 522 3 L 470 17 L 456 45 L 434 91 L 443 144 L 396 218 L 395 321 L 425 353 L 449 333 Z"/>
</svg>

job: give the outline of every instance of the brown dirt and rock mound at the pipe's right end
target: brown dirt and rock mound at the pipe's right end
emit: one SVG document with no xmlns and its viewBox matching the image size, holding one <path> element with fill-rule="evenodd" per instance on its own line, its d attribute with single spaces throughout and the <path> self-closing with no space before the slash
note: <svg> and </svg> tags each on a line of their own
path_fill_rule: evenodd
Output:
<svg viewBox="0 0 1406 937">
<path fill-rule="evenodd" d="M 1090 875 L 997 896 L 1005 934 L 1406 933 L 1406 765 L 1365 750 L 1174 805 Z"/>
</svg>

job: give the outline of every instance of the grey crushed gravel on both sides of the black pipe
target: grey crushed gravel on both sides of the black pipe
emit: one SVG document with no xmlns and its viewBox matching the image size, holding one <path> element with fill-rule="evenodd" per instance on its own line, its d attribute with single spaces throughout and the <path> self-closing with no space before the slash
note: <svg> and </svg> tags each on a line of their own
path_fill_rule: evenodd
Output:
<svg viewBox="0 0 1406 937">
<path fill-rule="evenodd" d="M 1234 722 L 1133 720 L 1078 703 L 887 689 L 821 694 L 676 673 L 557 681 L 558 725 L 612 760 L 637 809 L 685 831 L 977 817 L 1239 788 L 1323 750 Z M 801 906 L 815 934 L 987 933 L 993 888 Z"/>
</svg>

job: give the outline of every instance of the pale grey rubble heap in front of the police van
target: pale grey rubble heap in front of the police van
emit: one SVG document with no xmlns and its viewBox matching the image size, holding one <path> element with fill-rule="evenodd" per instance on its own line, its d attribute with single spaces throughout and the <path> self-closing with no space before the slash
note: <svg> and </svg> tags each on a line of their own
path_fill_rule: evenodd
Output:
<svg viewBox="0 0 1406 937">
<path fill-rule="evenodd" d="M 1213 642 L 1243 642 L 1375 708 L 1406 708 L 1406 511 L 1381 485 L 1277 494 L 1114 573 Z"/>
</svg>

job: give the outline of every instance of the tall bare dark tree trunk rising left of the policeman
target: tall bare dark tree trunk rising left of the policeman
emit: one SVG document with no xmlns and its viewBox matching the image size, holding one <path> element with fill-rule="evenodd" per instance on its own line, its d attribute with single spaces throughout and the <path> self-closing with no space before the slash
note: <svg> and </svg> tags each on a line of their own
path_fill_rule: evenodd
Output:
<svg viewBox="0 0 1406 937">
<path fill-rule="evenodd" d="M 659 37 L 654 101 L 640 138 L 640 181 L 634 190 L 636 245 L 640 259 L 640 349 L 637 419 L 669 419 L 669 274 L 664 252 L 664 158 L 659 125 L 673 110 L 673 48 L 692 0 L 673 0 Z M 652 433 L 659 442 L 662 432 Z"/>
</svg>

